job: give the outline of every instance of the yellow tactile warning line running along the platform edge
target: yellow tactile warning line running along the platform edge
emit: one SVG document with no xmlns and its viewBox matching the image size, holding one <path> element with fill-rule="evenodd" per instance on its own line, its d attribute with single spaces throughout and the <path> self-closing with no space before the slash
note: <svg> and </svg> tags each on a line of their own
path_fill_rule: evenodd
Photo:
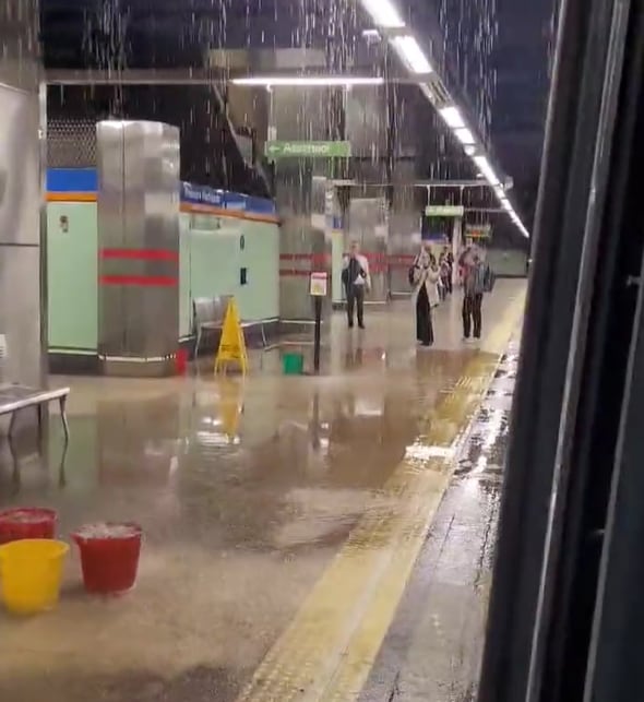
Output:
<svg viewBox="0 0 644 702">
<path fill-rule="evenodd" d="M 525 304 L 516 295 L 452 393 L 428 413 L 422 447 L 457 453 Z M 429 452 L 431 453 L 431 452 Z M 371 670 L 422 543 L 451 481 L 451 457 L 406 457 L 383 488 L 389 507 L 367 511 L 239 702 L 349 702 Z M 391 499 L 389 499 L 391 498 Z"/>
</svg>

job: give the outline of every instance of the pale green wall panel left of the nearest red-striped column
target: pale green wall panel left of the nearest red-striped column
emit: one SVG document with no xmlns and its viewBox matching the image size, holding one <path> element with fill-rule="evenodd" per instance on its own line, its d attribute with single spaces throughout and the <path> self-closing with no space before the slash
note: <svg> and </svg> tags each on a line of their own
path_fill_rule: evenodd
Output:
<svg viewBox="0 0 644 702">
<path fill-rule="evenodd" d="M 96 203 L 47 206 L 49 348 L 98 346 L 96 216 Z"/>
</svg>

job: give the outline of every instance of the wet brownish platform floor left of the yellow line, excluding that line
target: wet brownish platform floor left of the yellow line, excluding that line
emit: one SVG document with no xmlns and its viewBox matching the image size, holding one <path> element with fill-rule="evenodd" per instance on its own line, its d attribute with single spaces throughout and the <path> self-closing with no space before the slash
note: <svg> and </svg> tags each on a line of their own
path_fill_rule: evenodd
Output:
<svg viewBox="0 0 644 702">
<path fill-rule="evenodd" d="M 522 290 L 499 282 L 490 333 Z M 0 615 L 0 699 L 240 694 L 365 514 L 399 511 L 387 480 L 473 360 L 493 357 L 487 340 L 461 344 L 457 300 L 438 310 L 429 352 L 408 304 L 367 322 L 348 333 L 333 317 L 319 378 L 282 377 L 276 349 L 253 353 L 246 379 L 52 379 L 72 386 L 64 461 L 56 421 L 46 459 L 22 445 L 16 464 L 2 442 L 0 507 L 55 507 L 63 536 L 136 520 L 146 538 L 127 596 L 84 595 L 72 551 L 58 609 Z"/>
</svg>

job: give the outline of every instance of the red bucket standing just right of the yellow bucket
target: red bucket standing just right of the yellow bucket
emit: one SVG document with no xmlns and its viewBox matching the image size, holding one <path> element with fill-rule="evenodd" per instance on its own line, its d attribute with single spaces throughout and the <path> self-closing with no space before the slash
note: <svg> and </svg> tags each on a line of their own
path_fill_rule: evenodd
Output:
<svg viewBox="0 0 644 702">
<path fill-rule="evenodd" d="M 81 551 L 85 590 L 117 595 L 136 581 L 142 530 L 133 522 L 86 524 L 71 536 Z"/>
</svg>

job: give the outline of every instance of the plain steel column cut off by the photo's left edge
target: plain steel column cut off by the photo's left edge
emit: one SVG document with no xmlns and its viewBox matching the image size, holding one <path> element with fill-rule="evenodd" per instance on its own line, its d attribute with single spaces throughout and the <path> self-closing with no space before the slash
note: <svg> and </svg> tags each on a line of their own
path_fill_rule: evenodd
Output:
<svg viewBox="0 0 644 702">
<path fill-rule="evenodd" d="M 5 380 L 45 381 L 46 279 L 40 233 L 45 205 L 39 143 L 38 2 L 0 8 L 0 334 Z"/>
</svg>

